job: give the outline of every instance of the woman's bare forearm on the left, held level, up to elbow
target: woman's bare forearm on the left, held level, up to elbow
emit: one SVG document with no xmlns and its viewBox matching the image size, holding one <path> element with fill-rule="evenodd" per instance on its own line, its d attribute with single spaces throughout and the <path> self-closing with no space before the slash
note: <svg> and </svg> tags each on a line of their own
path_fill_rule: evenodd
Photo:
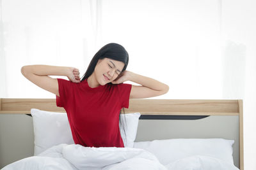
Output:
<svg viewBox="0 0 256 170">
<path fill-rule="evenodd" d="M 21 68 L 22 74 L 33 73 L 38 76 L 67 76 L 70 67 L 49 65 L 28 65 Z"/>
</svg>

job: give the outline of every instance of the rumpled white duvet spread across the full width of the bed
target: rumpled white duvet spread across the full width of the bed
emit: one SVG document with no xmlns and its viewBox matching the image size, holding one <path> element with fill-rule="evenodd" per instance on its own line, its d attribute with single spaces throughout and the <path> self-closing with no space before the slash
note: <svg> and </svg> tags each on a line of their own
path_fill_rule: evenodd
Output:
<svg viewBox="0 0 256 170">
<path fill-rule="evenodd" d="M 171 154 L 171 153 L 170 153 Z M 13 162 L 2 170 L 36 169 L 157 169 L 157 170 L 238 170 L 220 159 L 195 155 L 163 165 L 157 157 L 141 148 L 84 147 L 60 144 L 52 146 L 37 156 Z"/>
</svg>

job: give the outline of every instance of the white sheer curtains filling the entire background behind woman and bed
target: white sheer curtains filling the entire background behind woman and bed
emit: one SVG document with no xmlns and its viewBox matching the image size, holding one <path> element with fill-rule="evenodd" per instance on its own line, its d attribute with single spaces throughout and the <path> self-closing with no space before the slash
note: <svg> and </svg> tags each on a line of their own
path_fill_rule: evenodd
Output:
<svg viewBox="0 0 256 170">
<path fill-rule="evenodd" d="M 20 67 L 74 66 L 82 76 L 102 46 L 120 43 L 127 70 L 169 85 L 151 99 L 243 99 L 244 167 L 256 169 L 255 7 L 250 0 L 2 0 L 1 97 L 54 98 Z"/>
</svg>

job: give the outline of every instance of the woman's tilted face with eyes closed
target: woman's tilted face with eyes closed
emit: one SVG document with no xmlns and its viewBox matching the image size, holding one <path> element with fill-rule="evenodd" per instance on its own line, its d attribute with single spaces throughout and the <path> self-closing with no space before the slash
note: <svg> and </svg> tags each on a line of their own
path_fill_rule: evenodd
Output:
<svg viewBox="0 0 256 170">
<path fill-rule="evenodd" d="M 124 62 L 109 58 L 99 59 L 95 66 L 95 74 L 100 85 L 115 80 L 124 68 Z"/>
</svg>

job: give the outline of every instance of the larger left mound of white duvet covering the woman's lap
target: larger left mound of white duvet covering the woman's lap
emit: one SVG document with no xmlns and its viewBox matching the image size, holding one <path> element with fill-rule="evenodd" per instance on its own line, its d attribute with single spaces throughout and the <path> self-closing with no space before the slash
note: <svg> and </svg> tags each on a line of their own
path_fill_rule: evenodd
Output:
<svg viewBox="0 0 256 170">
<path fill-rule="evenodd" d="M 60 144 L 38 156 L 28 157 L 5 166 L 2 170 L 36 169 L 157 169 L 166 170 L 153 153 L 140 148 L 84 147 Z"/>
</svg>

